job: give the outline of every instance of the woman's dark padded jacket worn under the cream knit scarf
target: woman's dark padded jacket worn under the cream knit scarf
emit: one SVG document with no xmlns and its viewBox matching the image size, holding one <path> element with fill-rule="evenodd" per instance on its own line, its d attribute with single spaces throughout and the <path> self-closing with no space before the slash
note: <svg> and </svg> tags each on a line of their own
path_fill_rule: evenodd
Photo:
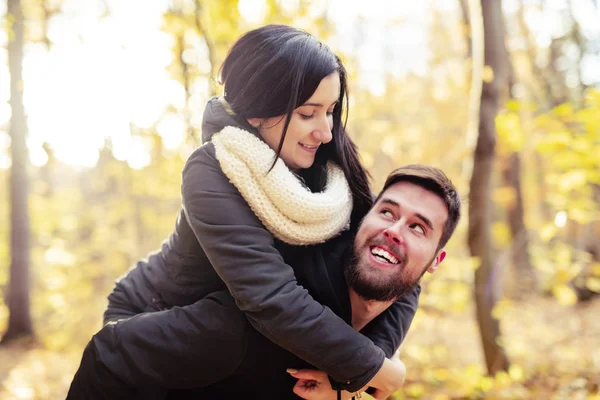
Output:
<svg viewBox="0 0 600 400">
<path fill-rule="evenodd" d="M 210 115 L 206 118 L 206 113 L 216 118 Z M 228 124 L 227 114 L 214 100 L 209 102 L 205 112 L 205 121 L 211 118 L 220 125 Z M 239 126 L 241 123 L 231 119 L 229 124 Z M 185 356 L 185 343 L 176 343 L 181 338 L 178 332 L 182 328 L 188 343 L 207 343 L 202 337 L 202 324 L 211 316 L 183 306 L 193 305 L 222 290 L 231 293 L 250 324 L 262 335 L 326 371 L 350 391 L 364 386 L 381 367 L 388 348 L 399 345 L 404 332 L 390 328 L 399 326 L 407 318 L 407 306 L 411 310 L 409 319 L 412 319 L 418 294 L 404 299 L 404 303 L 394 304 L 367 336 L 354 331 L 298 285 L 296 275 L 307 266 L 299 265 L 294 270 L 289 265 L 291 258 L 286 258 L 288 263 L 284 261 L 272 234 L 221 171 L 212 143 L 198 148 L 186 162 L 182 197 L 183 207 L 175 231 L 163 243 L 161 251 L 151 255 L 147 262 L 138 263 L 118 282 L 109 297 L 111 300 L 120 296 L 121 303 L 131 303 L 135 312 L 154 310 L 155 305 L 160 308 L 182 306 L 167 312 L 175 318 L 157 320 L 157 336 L 149 340 L 151 345 L 146 343 L 154 353 L 160 354 L 160 350 L 153 347 L 158 345 L 161 350 L 179 351 Z M 304 249 L 298 247 L 295 251 Z M 145 315 L 137 320 L 153 318 L 162 317 Z M 116 324 L 111 328 L 123 349 L 130 345 L 127 343 L 139 345 L 141 342 L 136 340 L 148 332 L 130 330 L 126 326 Z M 132 335 L 130 341 L 128 335 Z M 141 340 L 143 343 L 143 338 Z M 104 362 L 109 370 L 120 371 L 121 358 L 105 357 Z M 131 371 L 136 370 L 133 364 L 139 360 L 129 362 L 131 369 L 125 371 L 121 379 L 130 384 L 148 384 L 154 380 L 163 386 L 183 385 L 180 376 L 172 376 L 172 382 L 165 380 L 171 376 L 168 372 L 167 378 L 158 373 L 133 373 Z M 200 359 L 194 362 L 202 363 Z M 156 368 L 161 370 L 160 365 Z"/>
</svg>

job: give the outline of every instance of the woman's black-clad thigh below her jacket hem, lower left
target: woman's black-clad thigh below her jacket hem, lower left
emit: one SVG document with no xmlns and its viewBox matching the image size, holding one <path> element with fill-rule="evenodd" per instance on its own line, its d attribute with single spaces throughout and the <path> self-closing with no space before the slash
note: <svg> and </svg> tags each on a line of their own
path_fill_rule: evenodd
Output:
<svg viewBox="0 0 600 400">
<path fill-rule="evenodd" d="M 91 343 L 98 371 L 110 371 L 127 386 L 195 388 L 238 368 L 248 326 L 231 295 L 222 291 L 188 306 L 108 323 Z"/>
</svg>

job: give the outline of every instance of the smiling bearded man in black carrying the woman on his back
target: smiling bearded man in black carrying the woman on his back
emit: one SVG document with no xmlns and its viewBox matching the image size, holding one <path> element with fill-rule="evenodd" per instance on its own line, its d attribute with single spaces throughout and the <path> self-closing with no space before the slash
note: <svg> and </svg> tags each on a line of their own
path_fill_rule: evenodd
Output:
<svg viewBox="0 0 600 400">
<path fill-rule="evenodd" d="M 312 251 L 303 251 L 301 257 L 289 255 L 298 265 L 310 266 L 296 270 L 298 282 L 313 288 L 310 294 L 317 301 L 356 330 L 372 333 L 371 322 L 402 296 L 418 293 L 423 274 L 434 272 L 444 260 L 443 248 L 459 221 L 460 206 L 456 189 L 439 169 L 423 165 L 399 168 L 388 176 L 356 232 L 346 231 L 327 243 L 311 246 Z M 306 370 L 310 365 L 259 334 L 230 296 L 208 296 L 188 307 L 146 313 L 105 326 L 86 348 L 68 398 L 150 398 L 146 394 L 140 397 L 135 389 L 152 389 L 148 382 L 160 382 L 156 386 L 163 388 L 193 387 L 193 365 L 207 362 L 194 355 L 198 346 L 221 349 L 231 372 L 202 388 L 155 387 L 153 399 L 337 397 L 325 374 Z M 192 317 L 208 315 L 209 309 L 221 313 L 220 324 L 209 326 L 206 318 Z M 390 329 L 408 329 L 414 312 L 409 310 Z M 194 324 L 202 330 L 192 336 Z M 157 330 L 162 335 L 169 330 L 179 334 L 156 346 L 147 335 Z M 220 339 L 218 344 L 215 337 Z M 390 357 L 399 345 L 388 343 L 382 349 Z M 189 379 L 182 385 L 178 382 L 184 376 Z M 388 394 L 377 393 L 377 398 Z"/>
</svg>

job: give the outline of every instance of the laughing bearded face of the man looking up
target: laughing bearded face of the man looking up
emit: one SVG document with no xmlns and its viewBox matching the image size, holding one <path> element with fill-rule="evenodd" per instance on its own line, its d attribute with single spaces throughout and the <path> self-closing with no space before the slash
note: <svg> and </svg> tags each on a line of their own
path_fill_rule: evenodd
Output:
<svg viewBox="0 0 600 400">
<path fill-rule="evenodd" d="M 435 193 L 409 182 L 390 186 L 363 219 L 346 266 L 348 286 L 365 300 L 407 294 L 439 262 L 448 210 Z"/>
</svg>

